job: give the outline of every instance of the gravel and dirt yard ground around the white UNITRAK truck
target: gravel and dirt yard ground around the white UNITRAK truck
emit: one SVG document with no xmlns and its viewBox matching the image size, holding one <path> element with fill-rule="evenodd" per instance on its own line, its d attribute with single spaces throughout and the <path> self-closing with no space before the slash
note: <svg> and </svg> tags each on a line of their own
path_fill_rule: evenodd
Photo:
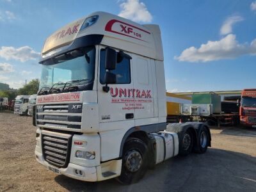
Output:
<svg viewBox="0 0 256 192">
<path fill-rule="evenodd" d="M 82 182 L 35 160 L 31 117 L 0 113 L 0 191 L 256 191 L 256 129 L 212 128 L 205 154 L 174 157 L 137 184 Z"/>
</svg>

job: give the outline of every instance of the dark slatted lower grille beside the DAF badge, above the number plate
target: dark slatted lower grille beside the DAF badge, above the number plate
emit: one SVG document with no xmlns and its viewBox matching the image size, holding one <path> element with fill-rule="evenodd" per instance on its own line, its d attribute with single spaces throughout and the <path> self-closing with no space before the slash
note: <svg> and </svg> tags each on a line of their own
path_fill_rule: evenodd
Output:
<svg viewBox="0 0 256 192">
<path fill-rule="evenodd" d="M 66 168 L 70 160 L 72 135 L 42 134 L 42 150 L 45 161 L 58 168 Z"/>
</svg>

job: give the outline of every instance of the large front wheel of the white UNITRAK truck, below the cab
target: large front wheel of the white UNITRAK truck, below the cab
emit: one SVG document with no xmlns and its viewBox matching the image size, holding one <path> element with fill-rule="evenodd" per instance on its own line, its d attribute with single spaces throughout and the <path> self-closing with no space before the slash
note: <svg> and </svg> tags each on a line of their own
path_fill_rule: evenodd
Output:
<svg viewBox="0 0 256 192">
<path fill-rule="evenodd" d="M 129 138 L 124 144 L 121 175 L 117 178 L 122 184 L 138 182 L 147 172 L 148 147 L 138 138 Z"/>
</svg>

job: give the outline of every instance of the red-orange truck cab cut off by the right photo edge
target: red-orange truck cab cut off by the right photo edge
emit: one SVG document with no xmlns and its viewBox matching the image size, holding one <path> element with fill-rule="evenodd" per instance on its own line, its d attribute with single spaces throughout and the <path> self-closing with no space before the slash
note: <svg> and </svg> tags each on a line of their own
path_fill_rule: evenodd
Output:
<svg viewBox="0 0 256 192">
<path fill-rule="evenodd" d="M 243 90 L 239 115 L 241 125 L 256 127 L 256 89 Z"/>
</svg>

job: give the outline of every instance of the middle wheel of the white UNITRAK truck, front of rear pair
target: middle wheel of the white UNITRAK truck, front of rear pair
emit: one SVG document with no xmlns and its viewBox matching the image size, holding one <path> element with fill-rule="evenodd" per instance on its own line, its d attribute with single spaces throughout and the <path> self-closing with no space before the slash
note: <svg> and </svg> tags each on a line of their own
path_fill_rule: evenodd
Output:
<svg viewBox="0 0 256 192">
<path fill-rule="evenodd" d="M 193 142 L 193 134 L 189 129 L 187 129 L 180 140 L 179 154 L 181 156 L 188 156 L 188 154 L 190 154 L 192 151 Z"/>
</svg>

